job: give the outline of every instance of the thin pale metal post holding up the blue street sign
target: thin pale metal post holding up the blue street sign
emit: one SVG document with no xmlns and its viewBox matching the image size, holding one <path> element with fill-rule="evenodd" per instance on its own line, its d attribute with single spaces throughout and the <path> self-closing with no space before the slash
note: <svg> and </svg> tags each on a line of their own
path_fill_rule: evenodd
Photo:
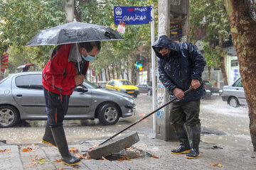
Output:
<svg viewBox="0 0 256 170">
<path fill-rule="evenodd" d="M 151 46 L 154 44 L 154 5 L 152 4 L 151 17 Z M 155 53 L 151 48 L 151 69 L 152 69 L 152 105 L 153 111 L 156 110 L 156 64 L 155 64 Z M 156 115 L 153 115 L 153 130 L 156 132 Z"/>
</svg>

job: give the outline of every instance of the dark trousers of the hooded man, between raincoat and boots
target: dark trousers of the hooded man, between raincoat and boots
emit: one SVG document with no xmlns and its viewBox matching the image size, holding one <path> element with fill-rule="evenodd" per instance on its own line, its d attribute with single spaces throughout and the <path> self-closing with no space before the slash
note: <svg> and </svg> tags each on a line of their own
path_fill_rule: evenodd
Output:
<svg viewBox="0 0 256 170">
<path fill-rule="evenodd" d="M 200 123 L 200 99 L 186 103 L 171 103 L 169 120 L 171 125 L 183 124 L 197 125 Z"/>
</svg>

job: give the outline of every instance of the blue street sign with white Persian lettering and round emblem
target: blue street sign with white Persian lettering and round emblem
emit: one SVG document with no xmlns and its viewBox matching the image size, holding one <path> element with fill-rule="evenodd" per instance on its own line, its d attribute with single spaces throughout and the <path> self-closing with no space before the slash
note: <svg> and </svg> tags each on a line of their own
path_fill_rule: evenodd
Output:
<svg viewBox="0 0 256 170">
<path fill-rule="evenodd" d="M 151 6 L 114 6 L 114 24 L 147 24 L 152 21 Z"/>
</svg>

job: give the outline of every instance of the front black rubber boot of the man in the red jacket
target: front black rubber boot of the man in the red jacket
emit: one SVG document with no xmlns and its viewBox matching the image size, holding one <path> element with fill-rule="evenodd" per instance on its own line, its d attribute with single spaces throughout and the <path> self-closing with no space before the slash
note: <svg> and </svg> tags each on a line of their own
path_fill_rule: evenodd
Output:
<svg viewBox="0 0 256 170">
<path fill-rule="evenodd" d="M 58 150 L 61 154 L 62 163 L 67 164 L 68 166 L 79 164 L 81 162 L 80 159 L 78 157 L 73 157 L 73 155 L 71 155 L 68 151 L 68 142 L 65 137 L 63 125 L 56 128 L 51 128 L 51 130 L 53 132 L 53 137 L 57 144 Z"/>
</svg>

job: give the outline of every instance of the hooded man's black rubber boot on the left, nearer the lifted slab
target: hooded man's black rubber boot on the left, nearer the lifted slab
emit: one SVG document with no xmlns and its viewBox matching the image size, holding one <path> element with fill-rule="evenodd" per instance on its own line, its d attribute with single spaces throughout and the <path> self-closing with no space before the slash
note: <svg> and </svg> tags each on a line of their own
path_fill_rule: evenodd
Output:
<svg viewBox="0 0 256 170">
<path fill-rule="evenodd" d="M 189 145 L 188 133 L 184 127 L 184 124 L 174 124 L 174 130 L 180 145 L 177 149 L 172 149 L 171 154 L 183 154 L 190 152 L 191 147 Z"/>
</svg>

